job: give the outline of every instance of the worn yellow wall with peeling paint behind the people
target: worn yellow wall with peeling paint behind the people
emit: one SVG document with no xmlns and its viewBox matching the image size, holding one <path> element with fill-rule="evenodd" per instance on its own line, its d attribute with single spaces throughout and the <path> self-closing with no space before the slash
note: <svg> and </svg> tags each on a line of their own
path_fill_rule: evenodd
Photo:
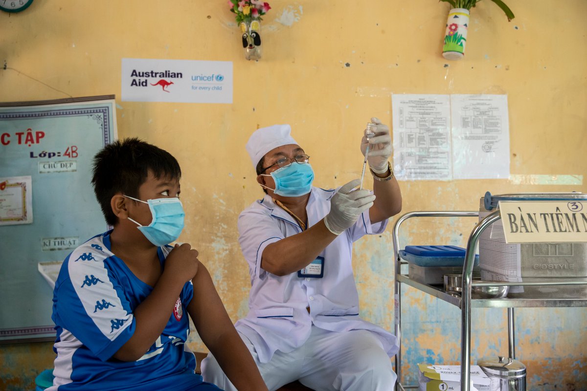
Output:
<svg viewBox="0 0 587 391">
<path fill-rule="evenodd" d="M 448 62 L 440 52 L 449 6 L 436 0 L 274 0 L 262 25 L 264 58 L 247 62 L 225 0 L 35 0 L 22 13 L 0 13 L 0 100 L 116 94 L 119 136 L 139 136 L 180 161 L 188 213 L 180 240 L 200 250 L 236 320 L 247 313 L 249 284 L 237 217 L 262 195 L 244 149 L 257 127 L 291 124 L 312 157 L 315 183 L 333 187 L 360 174 L 359 139 L 369 117 L 391 124 L 391 93 L 507 94 L 512 178 L 401 182 L 403 212 L 475 210 L 485 191 L 587 192 L 587 2 L 508 3 L 516 15 L 510 23 L 490 1 L 474 8 L 465 59 Z M 123 57 L 232 61 L 234 103 L 121 102 Z M 403 244 L 462 244 L 473 225 L 410 225 Z M 362 315 L 388 329 L 392 226 L 355 247 Z M 413 380 L 418 362 L 458 361 L 459 312 L 411 289 L 404 294 L 404 368 Z M 529 389 L 585 389 L 587 311 L 517 314 Z M 503 311 L 473 316 L 473 361 L 507 354 Z M 203 348 L 197 338 L 192 346 Z M 31 388 L 32 373 L 53 355 L 49 344 L 0 349 L 0 364 L 12 367 L 0 377 L 6 389 Z"/>
</svg>

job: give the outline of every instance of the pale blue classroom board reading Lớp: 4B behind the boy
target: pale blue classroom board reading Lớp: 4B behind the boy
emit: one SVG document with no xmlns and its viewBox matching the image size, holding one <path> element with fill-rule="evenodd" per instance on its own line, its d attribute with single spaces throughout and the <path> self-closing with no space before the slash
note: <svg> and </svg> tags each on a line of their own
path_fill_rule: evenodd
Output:
<svg viewBox="0 0 587 391">
<path fill-rule="evenodd" d="M 55 338 L 38 264 L 106 230 L 92 160 L 113 140 L 114 96 L 0 103 L 0 342 Z"/>
</svg>

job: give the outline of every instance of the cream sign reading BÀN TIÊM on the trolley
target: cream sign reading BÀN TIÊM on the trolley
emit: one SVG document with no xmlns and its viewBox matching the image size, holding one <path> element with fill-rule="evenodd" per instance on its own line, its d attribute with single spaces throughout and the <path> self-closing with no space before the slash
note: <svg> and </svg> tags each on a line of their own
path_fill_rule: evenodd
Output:
<svg viewBox="0 0 587 391">
<path fill-rule="evenodd" d="M 587 202 L 501 201 L 506 243 L 587 242 Z"/>
</svg>

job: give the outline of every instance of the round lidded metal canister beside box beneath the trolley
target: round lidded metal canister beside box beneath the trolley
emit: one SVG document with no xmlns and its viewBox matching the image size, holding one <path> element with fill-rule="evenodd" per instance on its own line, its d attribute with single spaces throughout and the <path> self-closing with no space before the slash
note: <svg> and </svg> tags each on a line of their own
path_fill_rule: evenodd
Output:
<svg viewBox="0 0 587 391">
<path fill-rule="evenodd" d="M 491 379 L 491 391 L 526 391 L 526 366 L 518 360 L 487 356 L 477 365 Z"/>
</svg>

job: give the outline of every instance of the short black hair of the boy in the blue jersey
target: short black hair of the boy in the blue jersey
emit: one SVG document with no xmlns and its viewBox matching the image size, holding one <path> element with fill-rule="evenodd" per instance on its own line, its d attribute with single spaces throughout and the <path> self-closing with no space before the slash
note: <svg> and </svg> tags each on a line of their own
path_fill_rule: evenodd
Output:
<svg viewBox="0 0 587 391">
<path fill-rule="evenodd" d="M 181 178 L 180 165 L 169 152 L 138 138 L 116 140 L 94 157 L 92 184 L 106 222 L 118 222 L 110 200 L 116 193 L 139 198 L 139 187 L 149 171 L 156 178 Z"/>
</svg>

